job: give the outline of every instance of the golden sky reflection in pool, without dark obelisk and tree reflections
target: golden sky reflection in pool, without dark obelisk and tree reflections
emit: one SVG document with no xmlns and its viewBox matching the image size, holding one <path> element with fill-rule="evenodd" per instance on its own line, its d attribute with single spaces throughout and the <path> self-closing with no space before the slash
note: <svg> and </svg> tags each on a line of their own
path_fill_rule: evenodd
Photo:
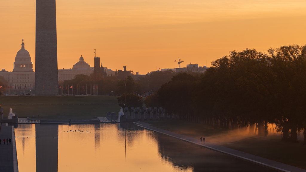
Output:
<svg viewBox="0 0 306 172">
<path fill-rule="evenodd" d="M 38 126 L 36 129 L 42 131 L 35 131 L 35 124 L 18 125 L 15 129 L 20 172 L 52 171 L 56 166 L 58 172 L 84 172 L 99 169 L 103 171 L 192 171 L 192 167 L 182 169 L 162 158 L 156 133 L 146 129 L 136 129 L 134 125 L 36 125 Z M 52 127 L 58 127 L 58 133 Z M 42 136 L 42 133 L 47 133 L 48 136 Z M 56 140 L 58 140 L 58 150 L 55 150 Z M 57 163 L 54 163 L 54 160 L 57 160 Z M 49 167 L 43 169 L 42 166 L 37 166 L 36 170 L 36 161 L 48 163 Z"/>
</svg>

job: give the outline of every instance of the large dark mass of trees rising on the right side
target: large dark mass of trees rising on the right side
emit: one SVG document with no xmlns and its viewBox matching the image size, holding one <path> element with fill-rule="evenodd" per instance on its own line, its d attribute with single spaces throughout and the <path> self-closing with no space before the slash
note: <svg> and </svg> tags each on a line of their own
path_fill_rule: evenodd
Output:
<svg viewBox="0 0 306 172">
<path fill-rule="evenodd" d="M 180 73 L 144 100 L 181 119 L 246 129 L 267 136 L 268 124 L 282 140 L 306 144 L 306 47 L 231 51 L 203 75 Z"/>
</svg>

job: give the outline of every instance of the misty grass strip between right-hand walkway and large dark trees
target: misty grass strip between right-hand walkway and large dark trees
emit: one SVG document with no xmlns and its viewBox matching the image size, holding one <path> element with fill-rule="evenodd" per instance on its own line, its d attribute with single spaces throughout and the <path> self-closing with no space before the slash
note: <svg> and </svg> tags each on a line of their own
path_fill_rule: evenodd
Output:
<svg viewBox="0 0 306 172">
<path fill-rule="evenodd" d="M 184 121 L 148 122 L 155 127 L 193 138 L 205 137 L 207 142 L 219 144 L 281 163 L 306 169 L 306 146 L 281 141 L 279 136 L 258 137 L 246 132 L 217 129 L 210 125 Z"/>
</svg>

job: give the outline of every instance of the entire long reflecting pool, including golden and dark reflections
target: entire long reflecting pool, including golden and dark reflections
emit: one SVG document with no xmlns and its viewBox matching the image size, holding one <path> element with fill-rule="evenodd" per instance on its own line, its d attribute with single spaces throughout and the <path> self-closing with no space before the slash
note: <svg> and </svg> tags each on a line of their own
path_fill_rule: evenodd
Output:
<svg viewBox="0 0 306 172">
<path fill-rule="evenodd" d="M 133 124 L 19 124 L 20 172 L 273 171 Z"/>
</svg>

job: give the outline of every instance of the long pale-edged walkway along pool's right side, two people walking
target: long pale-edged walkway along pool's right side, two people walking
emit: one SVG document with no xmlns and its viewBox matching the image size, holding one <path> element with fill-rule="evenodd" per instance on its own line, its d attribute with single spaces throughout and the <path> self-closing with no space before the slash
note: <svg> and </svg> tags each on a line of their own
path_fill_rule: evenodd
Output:
<svg viewBox="0 0 306 172">
<path fill-rule="evenodd" d="M 184 135 L 181 135 L 181 134 L 173 133 L 173 132 L 170 132 L 170 131 L 167 131 L 167 130 L 164 130 L 164 129 L 159 129 L 159 128 L 153 127 L 153 126 L 151 126 L 151 125 L 149 125 L 145 122 L 134 122 L 134 123 L 137 126 L 143 127 L 145 129 L 149 129 L 149 130 L 152 130 L 152 131 L 156 131 L 158 133 L 166 134 L 168 136 L 172 136 L 172 137 L 175 137 L 175 138 L 180 139 L 180 140 L 185 140 L 185 141 L 190 142 L 190 143 L 198 144 L 198 145 L 201 145 L 201 146 L 206 147 L 208 149 L 218 151 L 218 152 L 222 152 L 222 153 L 225 153 L 225 154 L 229 154 L 229 155 L 235 156 L 237 158 L 244 159 L 244 160 L 250 161 L 252 163 L 257 163 L 259 165 L 267 166 L 267 167 L 270 167 L 270 168 L 273 168 L 273 169 L 276 169 L 276 170 L 279 170 L 279 171 L 306 172 L 306 170 L 301 169 L 301 168 L 297 168 L 295 166 L 290 166 L 290 165 L 287 165 L 287 164 L 284 164 L 284 163 L 279 163 L 279 162 L 276 162 L 276 161 L 272 161 L 270 159 L 266 159 L 266 158 L 262 158 L 262 157 L 259 157 L 259 156 L 244 153 L 244 152 L 241 152 L 241 151 L 237 151 L 237 150 L 234 150 L 234 149 L 226 148 L 224 146 L 220 146 L 220 145 L 217 145 L 217 144 L 212 144 L 212 143 L 209 143 L 209 142 L 206 142 L 205 144 L 201 144 L 200 139 L 195 139 L 195 138 L 192 138 L 192 137 L 188 137 L 188 136 L 184 136 Z"/>
</svg>

